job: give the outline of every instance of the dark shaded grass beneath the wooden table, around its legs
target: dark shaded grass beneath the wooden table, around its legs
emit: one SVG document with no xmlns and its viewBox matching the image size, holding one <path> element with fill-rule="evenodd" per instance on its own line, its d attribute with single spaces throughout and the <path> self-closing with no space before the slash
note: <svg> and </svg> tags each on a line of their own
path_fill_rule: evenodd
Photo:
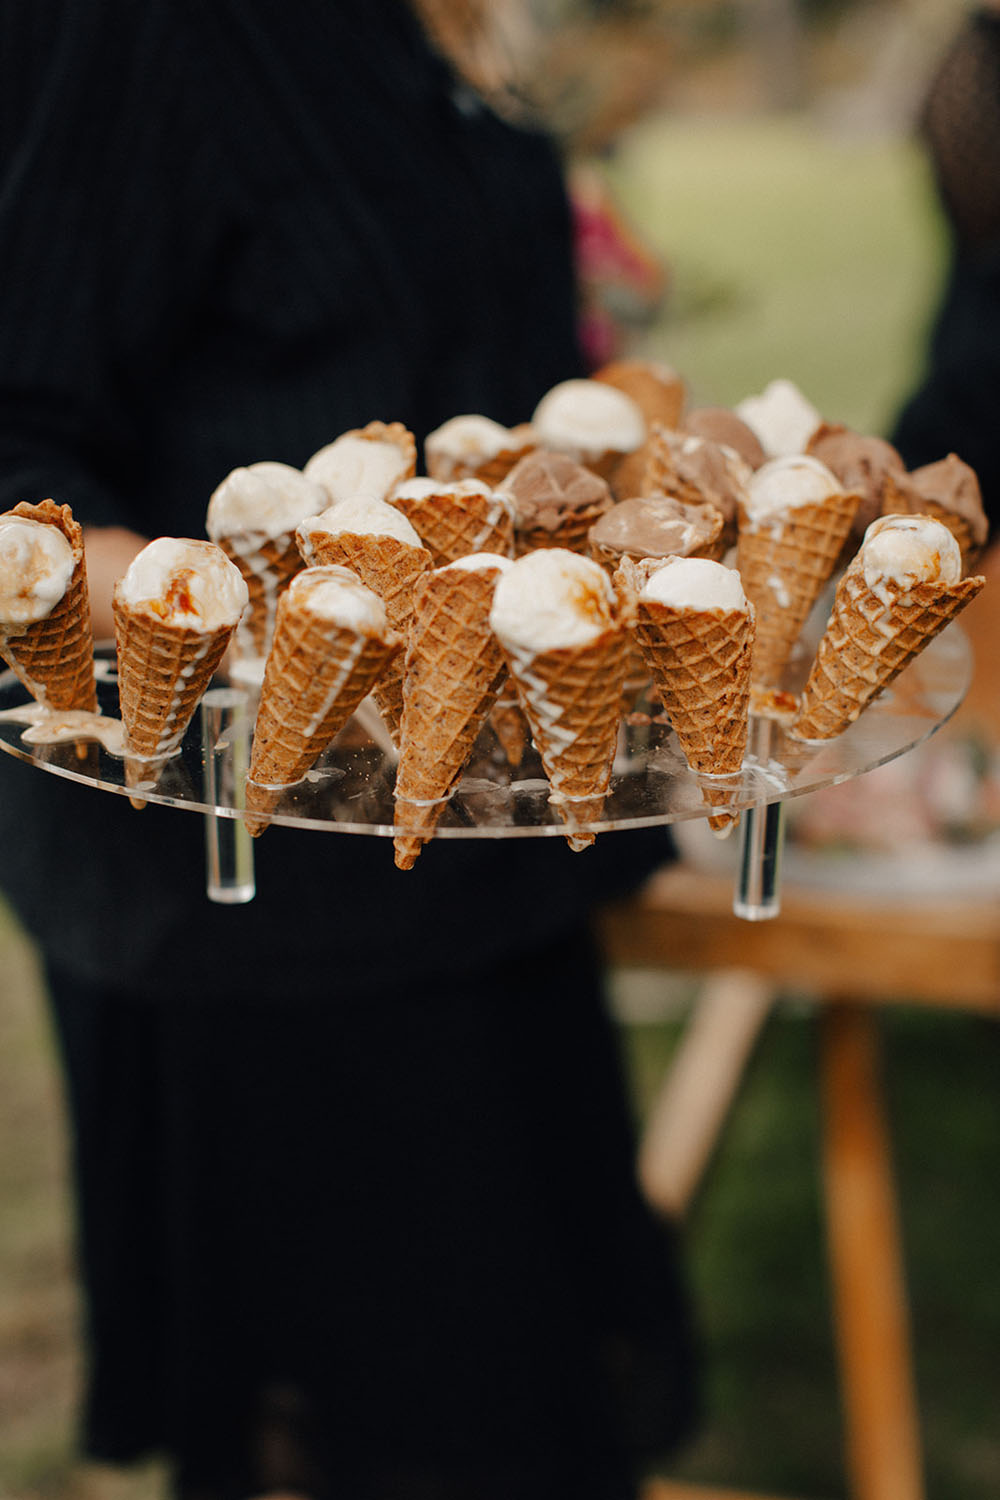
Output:
<svg viewBox="0 0 1000 1500">
<path fill-rule="evenodd" d="M 1000 1494 L 1000 1028 L 880 1012 L 928 1500 Z M 637 1104 L 678 1023 L 625 1034 Z M 670 1478 L 847 1494 L 823 1210 L 817 1012 L 784 996 L 687 1222 L 705 1420 Z"/>
</svg>

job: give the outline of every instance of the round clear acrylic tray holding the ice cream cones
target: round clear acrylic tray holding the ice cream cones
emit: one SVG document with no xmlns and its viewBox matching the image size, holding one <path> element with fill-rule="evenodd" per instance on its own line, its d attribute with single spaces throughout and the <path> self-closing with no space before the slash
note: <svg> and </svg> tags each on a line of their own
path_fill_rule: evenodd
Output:
<svg viewBox="0 0 1000 1500">
<path fill-rule="evenodd" d="M 114 651 L 96 654 L 100 711 L 117 718 L 118 692 Z M 705 818 L 703 786 L 729 792 L 732 810 L 760 808 L 819 790 L 870 771 L 927 740 L 961 704 L 972 678 L 972 651 L 960 626 L 951 624 L 835 740 L 804 744 L 781 723 L 756 716 L 747 762 L 739 776 L 699 778 L 685 765 L 673 732 L 642 712 L 622 724 L 610 792 L 595 832 L 648 828 Z M 243 777 L 252 735 L 253 693 L 223 686 L 211 688 L 195 714 L 177 756 L 142 800 L 195 813 L 240 818 Z M 96 789 L 135 795 L 124 782 L 123 760 L 96 741 L 31 744 L 25 741 L 24 710 L 30 699 L 12 672 L 0 676 L 0 747 L 54 776 Z M 354 720 L 321 756 L 315 768 L 283 795 L 273 822 L 324 832 L 390 837 L 393 828 L 394 758 Z M 549 801 L 549 784 L 534 750 L 511 770 L 490 729 L 438 826 L 439 838 L 532 838 L 564 836 L 565 824 Z"/>
</svg>

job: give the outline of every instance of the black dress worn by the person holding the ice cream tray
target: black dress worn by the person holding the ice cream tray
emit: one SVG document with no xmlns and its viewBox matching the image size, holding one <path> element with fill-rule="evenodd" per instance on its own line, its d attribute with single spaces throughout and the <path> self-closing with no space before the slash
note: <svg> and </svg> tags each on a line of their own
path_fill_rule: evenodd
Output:
<svg viewBox="0 0 1000 1500">
<path fill-rule="evenodd" d="M 397 0 L 0 0 L 0 80 L 1 508 L 202 536 L 240 464 L 514 423 L 579 372 L 559 164 Z M 199 819 L 0 759 L 72 1107 L 88 1450 L 165 1450 L 190 1494 L 630 1494 L 690 1353 L 586 920 L 666 836 L 403 874 L 271 828 L 256 900 L 217 908 Z"/>
</svg>

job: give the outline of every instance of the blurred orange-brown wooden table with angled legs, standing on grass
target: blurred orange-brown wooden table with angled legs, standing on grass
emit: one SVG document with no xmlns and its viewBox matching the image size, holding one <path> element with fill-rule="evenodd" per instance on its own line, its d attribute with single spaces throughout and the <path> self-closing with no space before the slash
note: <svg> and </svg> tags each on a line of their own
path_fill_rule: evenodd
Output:
<svg viewBox="0 0 1000 1500">
<path fill-rule="evenodd" d="M 670 1212 L 687 1206 L 769 998 L 789 986 L 813 992 L 826 1006 L 823 1194 L 850 1494 L 853 1500 L 922 1500 L 874 1008 L 904 1002 L 1000 1014 L 1000 910 L 994 902 L 894 906 L 786 886 L 777 921 L 745 922 L 732 912 L 729 880 L 679 866 L 655 876 L 637 898 L 609 908 L 601 932 L 615 964 L 715 976 L 708 1010 L 682 1046 L 679 1072 L 667 1080 L 654 1110 L 655 1134 L 640 1161 L 646 1191 Z M 727 970 L 726 980 L 720 970 Z M 726 986 L 729 1028 L 721 1022 Z M 708 1038 L 699 1048 L 708 1060 L 703 1088 L 690 1077 L 699 1032 Z M 699 1104 L 688 1110 L 691 1100 Z M 664 1155 L 657 1138 L 670 1143 Z M 657 1482 L 645 1500 L 751 1497 Z"/>
</svg>

